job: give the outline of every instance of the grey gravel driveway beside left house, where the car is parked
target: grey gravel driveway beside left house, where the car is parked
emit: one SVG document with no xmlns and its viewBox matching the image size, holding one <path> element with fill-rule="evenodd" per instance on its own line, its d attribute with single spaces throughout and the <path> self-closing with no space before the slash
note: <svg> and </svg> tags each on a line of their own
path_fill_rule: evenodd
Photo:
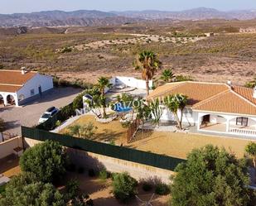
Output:
<svg viewBox="0 0 256 206">
<path fill-rule="evenodd" d="M 64 107 L 71 103 L 81 91 L 81 89 L 74 88 L 58 88 L 23 107 L 2 108 L 0 105 L 0 117 L 7 123 L 6 132 L 20 135 L 21 125 L 27 127 L 35 126 L 41 114 L 46 112 L 47 108 L 52 106 L 56 108 Z"/>
</svg>

